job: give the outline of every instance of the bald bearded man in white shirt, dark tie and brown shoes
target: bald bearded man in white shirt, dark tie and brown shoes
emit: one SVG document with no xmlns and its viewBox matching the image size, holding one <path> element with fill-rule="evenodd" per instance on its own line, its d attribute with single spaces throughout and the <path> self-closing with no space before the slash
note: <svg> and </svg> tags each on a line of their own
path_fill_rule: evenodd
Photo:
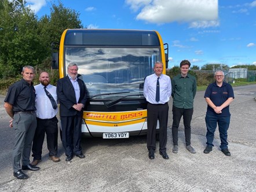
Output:
<svg viewBox="0 0 256 192">
<path fill-rule="evenodd" d="M 53 162 L 60 161 L 60 158 L 57 157 L 58 119 L 56 115 L 58 108 L 56 86 L 49 84 L 50 78 L 47 72 L 42 72 L 39 80 L 41 83 L 35 86 L 37 127 L 32 145 L 32 157 L 34 157 L 32 165 L 37 165 L 42 161 L 42 146 L 45 133 L 49 159 Z"/>
</svg>

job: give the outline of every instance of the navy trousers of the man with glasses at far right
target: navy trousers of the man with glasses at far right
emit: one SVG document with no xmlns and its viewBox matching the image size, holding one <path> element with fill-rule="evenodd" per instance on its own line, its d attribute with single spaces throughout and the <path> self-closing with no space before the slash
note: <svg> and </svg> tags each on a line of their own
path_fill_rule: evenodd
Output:
<svg viewBox="0 0 256 192">
<path fill-rule="evenodd" d="M 213 139 L 214 139 L 214 132 L 218 128 L 220 132 L 220 138 L 221 138 L 221 149 L 228 149 L 228 142 L 226 141 L 228 139 L 228 127 L 230 123 L 231 116 L 225 116 L 221 117 L 218 115 L 209 115 L 206 114 L 206 127 L 207 127 L 207 133 L 206 133 L 206 144 L 209 146 L 213 145 Z"/>
</svg>

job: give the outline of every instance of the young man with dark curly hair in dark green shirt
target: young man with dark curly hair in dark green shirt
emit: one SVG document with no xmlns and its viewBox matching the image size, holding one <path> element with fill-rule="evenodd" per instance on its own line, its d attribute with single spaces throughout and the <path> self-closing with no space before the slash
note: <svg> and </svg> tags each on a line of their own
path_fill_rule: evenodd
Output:
<svg viewBox="0 0 256 192">
<path fill-rule="evenodd" d="M 178 153 L 178 127 L 183 116 L 186 149 L 196 153 L 191 146 L 191 119 L 193 100 L 196 95 L 196 78 L 188 74 L 191 63 L 183 60 L 180 63 L 181 73 L 171 80 L 171 96 L 173 97 L 173 153 Z"/>
</svg>

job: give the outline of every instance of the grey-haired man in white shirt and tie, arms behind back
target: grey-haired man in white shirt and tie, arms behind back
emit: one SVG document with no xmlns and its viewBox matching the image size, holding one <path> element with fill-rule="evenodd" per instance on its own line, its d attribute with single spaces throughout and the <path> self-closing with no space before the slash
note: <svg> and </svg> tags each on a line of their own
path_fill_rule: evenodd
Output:
<svg viewBox="0 0 256 192">
<path fill-rule="evenodd" d="M 148 132 L 147 147 L 149 159 L 155 158 L 156 149 L 156 125 L 159 120 L 159 153 L 164 159 L 169 159 L 166 153 L 167 123 L 171 97 L 171 79 L 163 75 L 163 63 L 157 61 L 152 75 L 146 77 L 144 82 L 144 97 L 148 101 Z"/>
</svg>

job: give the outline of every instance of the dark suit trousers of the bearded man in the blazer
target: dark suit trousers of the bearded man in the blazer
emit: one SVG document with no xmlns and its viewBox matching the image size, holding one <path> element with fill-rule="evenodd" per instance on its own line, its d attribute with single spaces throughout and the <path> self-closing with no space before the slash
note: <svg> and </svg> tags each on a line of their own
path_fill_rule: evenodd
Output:
<svg viewBox="0 0 256 192">
<path fill-rule="evenodd" d="M 82 116 L 61 116 L 62 143 L 66 156 L 81 154 Z"/>
</svg>

